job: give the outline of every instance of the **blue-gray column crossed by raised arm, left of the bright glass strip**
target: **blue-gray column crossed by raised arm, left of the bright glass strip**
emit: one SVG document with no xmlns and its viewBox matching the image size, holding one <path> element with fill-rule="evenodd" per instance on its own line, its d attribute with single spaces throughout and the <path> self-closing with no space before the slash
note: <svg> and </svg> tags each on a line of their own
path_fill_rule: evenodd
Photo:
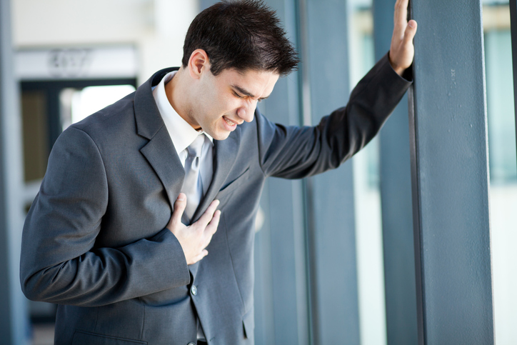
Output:
<svg viewBox="0 0 517 345">
<path fill-rule="evenodd" d="M 303 71 L 308 72 L 302 90 L 304 97 L 310 94 L 310 102 L 303 102 L 310 108 L 304 111 L 317 124 L 348 100 L 346 1 L 299 3 L 300 29 L 306 35 Z M 351 161 L 310 179 L 307 186 L 313 344 L 359 344 Z"/>
</svg>

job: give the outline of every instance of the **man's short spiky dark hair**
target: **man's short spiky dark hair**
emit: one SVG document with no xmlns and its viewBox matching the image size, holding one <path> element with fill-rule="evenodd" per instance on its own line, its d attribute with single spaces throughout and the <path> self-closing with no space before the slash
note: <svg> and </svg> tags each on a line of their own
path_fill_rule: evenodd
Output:
<svg viewBox="0 0 517 345">
<path fill-rule="evenodd" d="M 201 11 L 186 33 L 181 63 L 203 49 L 214 76 L 224 69 L 291 73 L 298 57 L 274 11 L 259 0 L 221 1 Z"/>
</svg>

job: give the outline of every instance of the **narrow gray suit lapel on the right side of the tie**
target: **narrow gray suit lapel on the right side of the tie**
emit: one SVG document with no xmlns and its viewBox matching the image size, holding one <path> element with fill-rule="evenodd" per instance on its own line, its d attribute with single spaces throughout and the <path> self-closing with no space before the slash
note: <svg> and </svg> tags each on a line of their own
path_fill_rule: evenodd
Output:
<svg viewBox="0 0 517 345">
<path fill-rule="evenodd" d="M 226 140 L 214 140 L 214 176 L 212 176 L 212 182 L 209 186 L 209 190 L 206 191 L 206 196 L 201 199 L 196 212 L 192 219 L 197 221 L 201 214 L 206 211 L 210 203 L 214 201 L 219 189 L 226 181 L 230 169 L 234 166 L 239 151 L 239 144 L 241 142 L 241 131 L 239 127 L 233 131 L 228 139 Z"/>
</svg>

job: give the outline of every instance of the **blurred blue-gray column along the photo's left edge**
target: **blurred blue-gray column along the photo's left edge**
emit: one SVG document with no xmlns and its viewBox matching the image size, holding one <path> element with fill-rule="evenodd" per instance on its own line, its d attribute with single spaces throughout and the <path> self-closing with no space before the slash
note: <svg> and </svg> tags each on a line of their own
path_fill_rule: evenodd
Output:
<svg viewBox="0 0 517 345">
<path fill-rule="evenodd" d="M 0 342 L 26 344 L 27 310 L 21 294 L 21 129 L 14 79 L 9 0 L 0 0 Z"/>
</svg>

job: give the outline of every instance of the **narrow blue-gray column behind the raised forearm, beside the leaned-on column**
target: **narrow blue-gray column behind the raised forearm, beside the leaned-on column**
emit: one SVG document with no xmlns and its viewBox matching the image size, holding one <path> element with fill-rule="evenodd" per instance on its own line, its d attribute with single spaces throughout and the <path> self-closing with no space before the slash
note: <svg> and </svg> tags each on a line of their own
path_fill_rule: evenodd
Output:
<svg viewBox="0 0 517 345">
<path fill-rule="evenodd" d="M 373 0 L 376 60 L 390 49 L 395 1 Z M 406 96 L 384 125 L 380 142 L 387 344 L 413 345 L 418 329 Z"/>
</svg>

